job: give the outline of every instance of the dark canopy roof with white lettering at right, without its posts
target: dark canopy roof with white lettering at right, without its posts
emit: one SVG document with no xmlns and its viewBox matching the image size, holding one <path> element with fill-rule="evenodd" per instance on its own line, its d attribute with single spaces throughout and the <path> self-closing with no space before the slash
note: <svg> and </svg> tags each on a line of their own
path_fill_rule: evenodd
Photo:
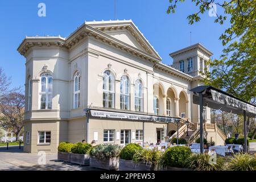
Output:
<svg viewBox="0 0 256 182">
<path fill-rule="evenodd" d="M 246 114 L 250 117 L 256 117 L 256 106 L 240 98 L 232 96 L 220 89 L 210 85 L 197 86 L 190 90 L 193 92 L 193 104 L 199 105 L 199 93 L 203 94 L 203 105 L 212 109 L 220 109 L 228 113 Z"/>
</svg>

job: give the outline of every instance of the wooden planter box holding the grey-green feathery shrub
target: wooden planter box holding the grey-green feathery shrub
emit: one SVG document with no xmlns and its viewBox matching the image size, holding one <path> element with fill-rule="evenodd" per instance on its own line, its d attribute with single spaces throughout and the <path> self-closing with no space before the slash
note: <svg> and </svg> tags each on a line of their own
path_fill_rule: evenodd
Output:
<svg viewBox="0 0 256 182">
<path fill-rule="evenodd" d="M 119 169 L 119 159 L 98 159 L 94 156 L 90 156 L 90 167 L 106 169 L 106 170 L 118 170 Z"/>
</svg>

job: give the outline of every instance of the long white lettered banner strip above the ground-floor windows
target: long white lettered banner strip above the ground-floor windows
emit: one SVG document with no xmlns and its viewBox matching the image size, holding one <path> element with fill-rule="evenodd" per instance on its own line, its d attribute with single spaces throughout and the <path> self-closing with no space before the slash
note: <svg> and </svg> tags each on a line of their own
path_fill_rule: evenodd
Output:
<svg viewBox="0 0 256 182">
<path fill-rule="evenodd" d="M 179 119 L 169 117 L 155 117 L 151 115 L 139 115 L 139 114 L 128 114 L 128 113 L 113 113 L 108 111 L 90 111 L 92 117 L 101 118 L 113 118 L 113 119 L 129 119 L 129 120 L 141 120 L 141 121 L 158 121 L 158 122 L 176 122 Z"/>
</svg>

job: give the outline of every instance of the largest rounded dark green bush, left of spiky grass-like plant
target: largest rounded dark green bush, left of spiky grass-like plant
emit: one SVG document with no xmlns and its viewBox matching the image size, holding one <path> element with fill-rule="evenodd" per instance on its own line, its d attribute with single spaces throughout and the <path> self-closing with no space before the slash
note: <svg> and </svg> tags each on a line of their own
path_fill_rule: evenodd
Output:
<svg viewBox="0 0 256 182">
<path fill-rule="evenodd" d="M 160 166 L 185 167 L 185 161 L 191 155 L 191 149 L 185 146 L 170 147 L 164 152 Z"/>
</svg>

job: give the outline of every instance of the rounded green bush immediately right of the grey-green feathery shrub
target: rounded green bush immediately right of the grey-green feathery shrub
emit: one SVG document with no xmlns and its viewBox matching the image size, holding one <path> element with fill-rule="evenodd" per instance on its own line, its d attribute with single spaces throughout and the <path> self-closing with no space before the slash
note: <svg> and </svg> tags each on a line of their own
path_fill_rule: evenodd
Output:
<svg viewBox="0 0 256 182">
<path fill-rule="evenodd" d="M 120 152 L 120 158 L 125 160 L 132 160 L 135 152 L 137 150 L 142 150 L 142 147 L 137 143 L 130 143 L 123 147 Z"/>
</svg>

